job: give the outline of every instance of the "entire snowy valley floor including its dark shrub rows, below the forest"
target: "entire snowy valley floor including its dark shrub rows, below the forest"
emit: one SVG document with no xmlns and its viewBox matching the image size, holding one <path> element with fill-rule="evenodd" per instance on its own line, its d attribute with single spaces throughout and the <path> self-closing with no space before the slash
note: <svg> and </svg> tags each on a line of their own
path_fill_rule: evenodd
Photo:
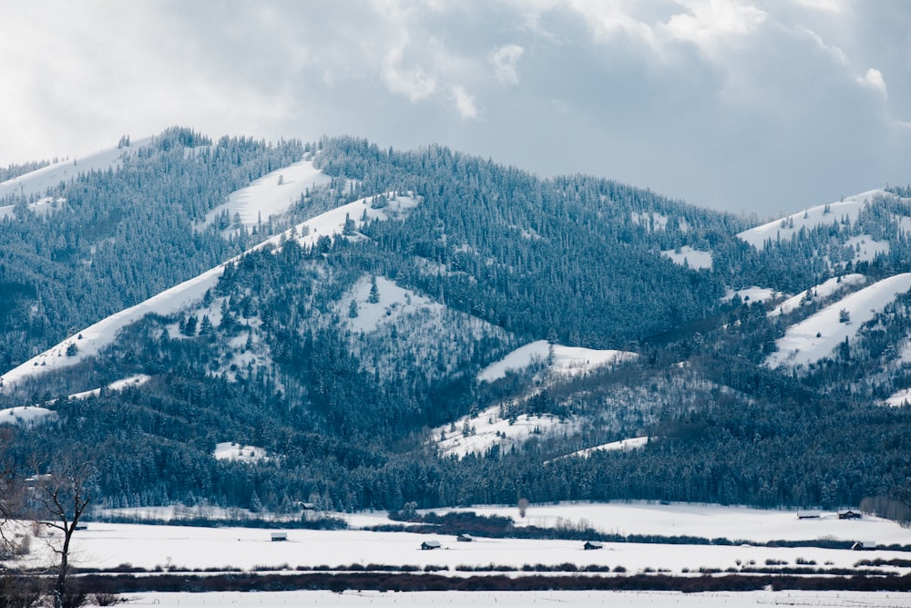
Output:
<svg viewBox="0 0 911 608">
<path fill-rule="evenodd" d="M 519 517 L 515 507 L 470 510 L 509 516 L 517 528 L 586 528 L 717 541 L 604 542 L 602 549 L 586 551 L 581 540 L 477 537 L 462 542 L 452 534 L 363 529 L 394 523 L 385 513 L 333 514 L 347 520 L 350 529 L 341 531 L 282 528 L 278 521 L 269 529 L 89 521 L 86 530 L 77 531 L 71 562 L 85 582 L 100 581 L 91 586 L 109 583 L 113 587 L 107 589 L 126 593 L 138 605 L 911 608 L 911 593 L 899 593 L 911 589 L 911 531 L 875 517 L 840 520 L 835 513 L 824 512 L 802 520 L 796 511 L 647 502 L 533 505 L 525 517 Z M 174 510 L 129 514 L 156 519 L 176 515 Z M 207 515 L 217 516 L 211 511 Z M 287 540 L 271 541 L 276 531 Z M 50 545 L 55 541 L 33 539 L 26 565 L 42 569 L 53 562 Z M 437 541 L 439 548 L 422 550 L 425 541 Z M 863 541 L 877 548 L 751 544 L 769 541 L 842 541 L 842 546 L 844 541 Z M 892 547 L 885 549 L 888 545 Z M 501 591 L 510 588 L 515 591 Z M 226 591 L 237 589 L 259 591 Z M 276 593 L 294 589 L 322 591 Z M 644 591 L 649 589 L 662 591 Z M 198 593 L 187 593 L 194 591 Z"/>
</svg>

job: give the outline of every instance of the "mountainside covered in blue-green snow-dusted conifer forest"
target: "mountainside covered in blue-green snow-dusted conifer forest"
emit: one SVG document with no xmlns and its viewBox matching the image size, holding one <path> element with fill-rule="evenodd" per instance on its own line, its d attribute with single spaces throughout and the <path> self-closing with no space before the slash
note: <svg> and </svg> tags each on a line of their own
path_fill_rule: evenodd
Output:
<svg viewBox="0 0 911 608">
<path fill-rule="evenodd" d="M 331 180 L 286 216 L 200 229 L 232 191 L 304 155 Z M 878 282 L 911 270 L 906 190 L 756 227 L 437 146 L 212 143 L 171 129 L 47 194 L 65 202 L 38 214 L 9 201 L 0 222 L 4 370 L 227 262 L 199 302 L 0 393 L 0 407 L 56 413 L 15 425 L 7 454 L 24 466 L 85 455 L 99 504 L 911 500 L 909 410 L 884 405 L 911 386 L 909 296 L 848 310 L 851 294 L 885 294 Z M 343 205 L 338 222 L 321 215 Z M 752 242 L 758 228 L 774 237 Z M 769 365 L 814 314 L 836 319 L 844 343 Z M 548 356 L 477 379 L 536 340 Z M 558 345 L 627 356 L 558 367 Z M 139 374 L 148 381 L 107 388 Z M 480 417 L 504 421 L 502 443 L 438 449 Z M 568 456 L 637 437 L 649 439 Z M 216 459 L 226 441 L 268 458 Z"/>
</svg>

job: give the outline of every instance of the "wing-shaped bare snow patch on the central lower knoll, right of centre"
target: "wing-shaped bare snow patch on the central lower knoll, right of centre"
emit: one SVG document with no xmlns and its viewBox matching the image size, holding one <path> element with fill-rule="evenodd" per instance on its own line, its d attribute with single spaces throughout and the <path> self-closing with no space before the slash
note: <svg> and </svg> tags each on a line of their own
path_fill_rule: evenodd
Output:
<svg viewBox="0 0 911 608">
<path fill-rule="evenodd" d="M 547 340 L 537 340 L 521 346 L 496 363 L 486 366 L 477 375 L 478 382 L 493 382 L 506 377 L 509 371 L 521 371 L 548 360 L 550 345 Z M 580 346 L 554 345 L 552 372 L 567 376 L 585 374 L 600 366 L 609 366 L 636 357 L 636 353 L 620 350 L 596 350 Z"/>
</svg>

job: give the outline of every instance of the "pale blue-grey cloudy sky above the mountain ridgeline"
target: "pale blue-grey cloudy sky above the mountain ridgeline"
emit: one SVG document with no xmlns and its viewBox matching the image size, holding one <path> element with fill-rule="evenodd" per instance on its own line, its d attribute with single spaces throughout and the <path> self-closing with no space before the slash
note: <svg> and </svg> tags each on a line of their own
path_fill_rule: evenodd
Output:
<svg viewBox="0 0 911 608">
<path fill-rule="evenodd" d="M 767 217 L 911 182 L 911 2 L 0 3 L 0 166 L 172 125 L 436 142 Z"/>
</svg>

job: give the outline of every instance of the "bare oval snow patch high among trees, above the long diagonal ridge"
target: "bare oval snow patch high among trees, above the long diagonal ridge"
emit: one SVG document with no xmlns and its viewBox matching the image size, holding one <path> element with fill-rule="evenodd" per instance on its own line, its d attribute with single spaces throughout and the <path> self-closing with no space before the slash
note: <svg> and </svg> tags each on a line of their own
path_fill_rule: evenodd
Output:
<svg viewBox="0 0 911 608">
<path fill-rule="evenodd" d="M 308 189 L 312 190 L 331 180 L 328 175 L 313 167 L 312 160 L 300 160 L 263 175 L 246 188 L 231 192 L 227 202 L 206 214 L 202 225 L 210 225 L 224 211 L 228 211 L 232 222 L 235 213 L 240 215 L 241 224 L 248 228 L 260 221 L 268 222 L 270 216 L 278 216 L 291 209 Z"/>
</svg>

